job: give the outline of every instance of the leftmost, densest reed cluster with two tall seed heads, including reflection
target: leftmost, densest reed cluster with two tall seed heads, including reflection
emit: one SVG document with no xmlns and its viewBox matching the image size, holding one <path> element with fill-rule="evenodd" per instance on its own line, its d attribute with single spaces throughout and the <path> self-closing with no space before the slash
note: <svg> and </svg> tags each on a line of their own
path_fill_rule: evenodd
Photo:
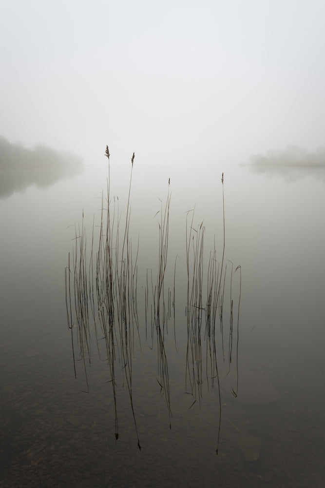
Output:
<svg viewBox="0 0 325 488">
<path fill-rule="evenodd" d="M 118 417 L 116 404 L 116 365 L 122 367 L 127 384 L 132 408 L 137 444 L 140 441 L 137 432 L 132 389 L 132 356 L 134 335 L 139 333 L 137 315 L 137 256 L 138 244 L 134 256 L 130 237 L 130 195 L 134 153 L 131 158 L 131 174 L 125 223 L 120 222 L 118 200 L 111 199 L 110 189 L 110 152 L 106 146 L 108 159 L 107 197 L 102 194 L 99 238 L 94 249 L 94 224 L 92 245 L 87 266 L 86 231 L 83 220 L 81 229 L 76 230 L 73 251 L 73 265 L 66 270 L 66 304 L 69 328 L 72 331 L 73 357 L 75 361 L 73 327 L 76 327 L 79 356 L 84 363 L 87 389 L 89 391 L 86 361 L 91 362 L 90 331 L 95 329 L 97 349 L 98 341 L 105 343 L 105 358 L 110 369 L 110 382 L 115 405 L 115 438 L 118 438 Z M 105 206 L 106 205 L 106 206 Z M 71 274 L 73 275 L 74 303 L 72 305 Z M 91 313 L 90 313 L 91 310 Z M 91 327 L 91 322 L 94 327 Z M 135 332 L 136 331 L 136 332 Z M 101 358 L 103 359 L 103 358 Z M 76 367 L 75 367 L 76 373 Z"/>
</svg>

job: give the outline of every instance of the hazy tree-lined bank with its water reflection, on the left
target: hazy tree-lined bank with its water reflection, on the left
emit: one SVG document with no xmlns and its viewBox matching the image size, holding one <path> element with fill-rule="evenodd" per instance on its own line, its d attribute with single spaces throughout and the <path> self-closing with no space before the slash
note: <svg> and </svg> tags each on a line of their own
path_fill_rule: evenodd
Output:
<svg viewBox="0 0 325 488">
<path fill-rule="evenodd" d="M 0 198 L 10 197 L 33 184 L 46 188 L 80 174 L 82 169 L 82 159 L 67 151 L 44 145 L 27 149 L 0 137 Z"/>
</svg>

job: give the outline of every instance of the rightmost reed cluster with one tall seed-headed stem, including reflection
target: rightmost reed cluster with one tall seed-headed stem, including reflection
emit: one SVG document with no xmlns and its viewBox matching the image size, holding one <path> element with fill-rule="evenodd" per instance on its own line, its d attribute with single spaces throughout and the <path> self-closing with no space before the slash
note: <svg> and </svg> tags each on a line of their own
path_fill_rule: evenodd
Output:
<svg viewBox="0 0 325 488">
<path fill-rule="evenodd" d="M 223 247 L 221 261 L 217 260 L 217 249 L 214 238 L 213 249 L 205 251 L 204 237 L 205 226 L 203 222 L 196 228 L 193 227 L 194 209 L 187 212 L 186 217 L 186 265 L 187 265 L 187 351 L 186 351 L 186 387 L 190 386 L 190 392 L 194 397 L 191 407 L 198 400 L 201 401 L 204 376 L 208 388 L 213 388 L 216 380 L 219 399 L 219 422 L 216 452 L 218 453 L 220 426 L 221 426 L 221 391 L 219 362 L 228 363 L 228 373 L 233 364 L 233 298 L 232 278 L 233 264 L 230 261 L 230 273 L 227 272 L 225 264 L 225 200 L 224 200 L 224 174 L 222 173 L 222 198 L 223 198 Z M 191 218 L 190 218 L 191 215 Z M 206 256 L 209 255 L 208 263 Z M 238 266 L 237 269 L 240 269 Z M 228 334 L 224 332 L 224 302 L 226 296 L 226 283 L 230 279 L 230 306 L 229 306 L 229 328 Z M 206 289 L 206 295 L 203 293 Z M 239 305 L 241 293 L 241 269 L 240 269 L 240 291 L 238 301 L 237 317 L 237 342 L 236 342 L 236 389 L 233 389 L 234 396 L 238 392 L 238 338 L 239 338 Z M 204 336 L 202 337 L 202 327 Z M 206 350 L 202 349 L 202 342 L 205 342 Z M 226 343 L 228 341 L 228 345 Z M 227 346 L 227 347 L 226 347 Z M 226 358 L 228 353 L 228 357 Z M 204 358 L 204 359 L 203 359 Z M 205 362 L 205 371 L 204 371 Z M 190 408 L 191 408 L 190 407 Z"/>
</svg>

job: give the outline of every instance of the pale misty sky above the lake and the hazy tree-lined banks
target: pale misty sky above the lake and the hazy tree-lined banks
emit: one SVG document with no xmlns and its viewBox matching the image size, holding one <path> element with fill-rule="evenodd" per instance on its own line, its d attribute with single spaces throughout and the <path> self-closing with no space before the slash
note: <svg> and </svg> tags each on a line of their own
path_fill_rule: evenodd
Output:
<svg viewBox="0 0 325 488">
<path fill-rule="evenodd" d="M 324 0 L 2 1 L 0 135 L 179 173 L 316 151 L 324 19 Z"/>
</svg>

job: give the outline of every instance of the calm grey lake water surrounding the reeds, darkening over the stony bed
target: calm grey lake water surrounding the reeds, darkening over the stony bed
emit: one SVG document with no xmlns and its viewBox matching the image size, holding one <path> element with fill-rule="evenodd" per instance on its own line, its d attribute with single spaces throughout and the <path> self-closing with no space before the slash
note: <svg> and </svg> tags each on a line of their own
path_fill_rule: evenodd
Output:
<svg viewBox="0 0 325 488">
<path fill-rule="evenodd" d="M 146 338 L 144 312 L 147 269 L 153 270 L 154 283 L 157 275 L 160 215 L 154 215 L 160 210 L 158 199 L 166 201 L 169 175 L 164 181 L 154 176 L 152 182 L 144 181 L 134 163 L 130 236 L 134 255 L 139 236 L 139 334 L 135 327 L 132 370 L 126 373 L 126 362 L 116 359 L 116 440 L 105 347 L 99 338 L 98 358 L 91 325 L 85 392 L 82 360 L 76 361 L 75 379 L 65 303 L 74 225 L 81 224 L 83 210 L 89 258 L 94 215 L 95 234 L 99 232 L 106 169 L 86 167 L 74 179 L 46 189 L 30 187 L 0 200 L 0 486 L 325 486 L 324 176 L 296 172 L 290 179 L 290 173 L 257 174 L 239 166 L 225 173 L 225 263 L 227 273 L 230 261 L 233 271 L 241 268 L 232 278 L 233 361 L 227 376 L 230 274 L 225 282 L 225 362 L 217 321 L 221 428 L 216 455 L 219 395 L 215 379 L 211 385 L 204 321 L 201 348 L 196 349 L 202 355 L 202 384 L 196 381 L 197 362 L 193 366 L 191 353 L 189 360 L 201 396 L 191 394 L 190 371 L 186 375 L 186 212 L 195 205 L 196 230 L 204 221 L 205 263 L 214 235 L 221 262 L 221 174 L 213 181 L 201 174 L 171 178 L 166 308 L 179 257 L 175 307 L 169 305 L 171 317 L 164 328 L 170 418 L 167 383 L 164 391 L 160 386 L 161 349 L 155 328 L 151 336 L 149 307 Z M 124 176 L 112 173 L 111 195 L 119 197 L 125 222 L 129 168 Z M 203 279 L 205 296 L 206 269 Z M 76 329 L 73 333 L 76 340 Z M 76 342 L 75 347 L 79 359 Z"/>
</svg>

